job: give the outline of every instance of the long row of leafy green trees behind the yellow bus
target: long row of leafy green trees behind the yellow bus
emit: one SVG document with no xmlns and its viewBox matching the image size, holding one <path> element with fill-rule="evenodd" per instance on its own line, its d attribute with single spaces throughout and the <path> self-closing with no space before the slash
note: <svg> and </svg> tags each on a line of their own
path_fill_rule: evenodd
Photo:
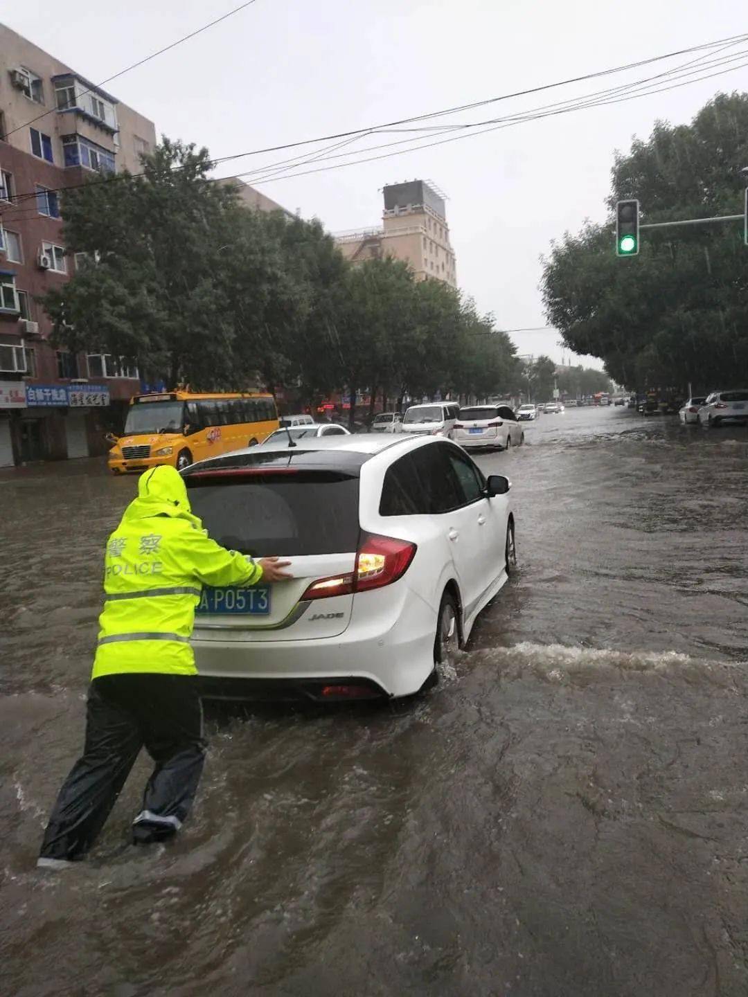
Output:
<svg viewBox="0 0 748 997">
<path fill-rule="evenodd" d="M 58 344 L 172 386 L 292 387 L 310 404 L 513 389 L 519 362 L 493 316 L 401 261 L 349 264 L 319 221 L 247 208 L 210 166 L 165 139 L 142 175 L 64 194 L 68 252 L 85 255 L 44 299 Z"/>
</svg>

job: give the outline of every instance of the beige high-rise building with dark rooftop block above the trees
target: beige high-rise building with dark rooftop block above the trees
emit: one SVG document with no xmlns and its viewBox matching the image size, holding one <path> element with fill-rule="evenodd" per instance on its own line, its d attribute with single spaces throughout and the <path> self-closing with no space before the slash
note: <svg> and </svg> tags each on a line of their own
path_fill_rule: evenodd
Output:
<svg viewBox="0 0 748 997">
<path fill-rule="evenodd" d="M 409 263 L 418 280 L 443 280 L 456 287 L 455 251 L 443 194 L 426 180 L 392 183 L 383 192 L 380 228 L 336 233 L 346 259 L 362 263 L 394 256 Z"/>
</svg>

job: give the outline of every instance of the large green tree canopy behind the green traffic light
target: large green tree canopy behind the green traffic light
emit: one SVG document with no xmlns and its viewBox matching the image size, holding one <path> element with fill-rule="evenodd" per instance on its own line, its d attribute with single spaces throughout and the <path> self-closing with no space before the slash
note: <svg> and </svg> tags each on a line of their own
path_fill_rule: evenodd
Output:
<svg viewBox="0 0 748 997">
<path fill-rule="evenodd" d="M 612 212 L 636 197 L 641 222 L 738 214 L 748 165 L 748 95 L 717 95 L 690 125 L 658 123 L 612 166 L 611 216 L 565 233 L 544 261 L 549 321 L 577 353 L 630 389 L 708 391 L 748 375 L 748 247 L 738 221 L 643 231 L 617 258 Z"/>
</svg>

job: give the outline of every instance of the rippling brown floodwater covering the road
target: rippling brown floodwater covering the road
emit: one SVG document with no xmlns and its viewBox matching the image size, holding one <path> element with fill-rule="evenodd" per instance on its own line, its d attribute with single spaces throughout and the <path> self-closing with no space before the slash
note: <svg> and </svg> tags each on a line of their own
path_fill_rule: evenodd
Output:
<svg viewBox="0 0 748 997">
<path fill-rule="evenodd" d="M 520 569 L 453 673 L 384 708 L 214 713 L 181 838 L 34 868 L 77 757 L 98 462 L 0 475 L 2 992 L 744 997 L 748 430 L 567 410 L 482 456 Z"/>
</svg>

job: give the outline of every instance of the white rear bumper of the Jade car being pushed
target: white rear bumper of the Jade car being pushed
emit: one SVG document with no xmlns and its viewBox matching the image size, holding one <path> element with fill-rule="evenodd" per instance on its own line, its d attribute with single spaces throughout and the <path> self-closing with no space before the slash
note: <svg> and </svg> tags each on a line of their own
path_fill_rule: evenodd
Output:
<svg viewBox="0 0 748 997">
<path fill-rule="evenodd" d="M 434 670 L 437 614 L 412 593 L 396 615 L 371 613 L 363 600 L 376 594 L 357 596 L 362 603 L 354 602 L 351 622 L 337 637 L 260 642 L 241 631 L 216 630 L 209 637 L 203 631 L 191 640 L 203 686 L 228 688 L 230 683 L 220 680 L 242 680 L 247 696 L 239 698 L 253 698 L 252 682 L 285 687 L 280 698 L 291 699 L 299 693 L 315 698 L 309 692 L 314 687 L 349 682 L 368 684 L 389 697 L 418 692 Z"/>
</svg>

